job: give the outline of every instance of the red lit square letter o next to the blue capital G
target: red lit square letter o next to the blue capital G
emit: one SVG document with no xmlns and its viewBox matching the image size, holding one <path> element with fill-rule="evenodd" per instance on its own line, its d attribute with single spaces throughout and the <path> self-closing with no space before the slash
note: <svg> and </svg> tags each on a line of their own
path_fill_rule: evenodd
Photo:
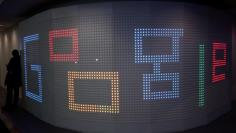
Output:
<svg viewBox="0 0 236 133">
<path fill-rule="evenodd" d="M 55 53 L 53 44 L 55 38 L 72 38 L 72 51 L 69 54 Z M 65 44 L 70 45 L 70 44 Z M 79 60 L 79 46 L 78 46 L 78 30 L 72 29 L 60 29 L 49 31 L 49 53 L 50 62 L 77 62 Z"/>
</svg>

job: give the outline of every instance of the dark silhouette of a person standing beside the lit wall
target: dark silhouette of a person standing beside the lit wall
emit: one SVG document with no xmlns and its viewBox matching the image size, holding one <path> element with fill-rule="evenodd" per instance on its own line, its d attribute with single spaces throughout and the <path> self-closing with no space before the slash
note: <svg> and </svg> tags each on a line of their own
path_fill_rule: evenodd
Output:
<svg viewBox="0 0 236 133">
<path fill-rule="evenodd" d="M 5 79 L 5 86 L 7 86 L 7 97 L 6 104 L 3 107 L 3 110 L 7 111 L 9 111 L 13 107 L 17 107 L 19 100 L 19 87 L 22 85 L 20 55 L 18 50 L 13 50 L 12 56 L 13 57 L 7 64 L 7 75 Z"/>
</svg>

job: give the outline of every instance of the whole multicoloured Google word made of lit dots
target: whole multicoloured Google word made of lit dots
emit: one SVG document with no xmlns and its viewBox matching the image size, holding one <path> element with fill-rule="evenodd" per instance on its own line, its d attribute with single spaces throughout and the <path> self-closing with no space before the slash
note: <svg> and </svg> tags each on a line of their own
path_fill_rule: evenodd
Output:
<svg viewBox="0 0 236 133">
<path fill-rule="evenodd" d="M 80 63 L 80 40 L 78 36 L 80 30 L 78 28 L 62 28 L 48 31 L 48 52 L 49 61 L 53 62 L 69 62 Z M 161 65 L 163 63 L 178 64 L 180 61 L 180 40 L 184 36 L 183 28 L 135 28 L 131 33 L 133 41 L 130 42 L 134 48 L 133 63 L 137 65 L 152 64 L 152 73 L 143 73 L 142 76 L 142 99 L 143 101 L 153 101 L 162 99 L 176 99 L 180 97 L 180 72 L 162 72 Z M 168 38 L 170 40 L 170 54 L 145 54 L 144 39 L 148 38 Z M 55 51 L 55 39 L 69 38 L 71 39 L 70 53 L 59 53 Z M 43 80 L 42 80 L 42 68 L 44 66 L 40 64 L 29 64 L 27 56 L 27 46 L 32 45 L 33 42 L 40 40 L 40 34 L 32 34 L 23 37 L 24 48 L 24 82 L 26 96 L 39 102 L 43 102 Z M 158 44 L 157 44 L 158 45 Z M 217 83 L 226 79 L 225 73 L 218 73 L 218 68 L 224 68 L 227 65 L 227 44 L 224 42 L 212 42 L 212 83 Z M 199 107 L 205 104 L 205 45 L 199 45 L 199 81 L 198 81 L 198 103 Z M 218 56 L 221 55 L 221 56 Z M 73 64 L 72 64 L 73 65 Z M 28 69 L 30 68 L 30 69 Z M 38 93 L 31 92 L 31 88 L 28 87 L 29 71 L 37 72 L 37 90 Z M 67 71 L 67 98 L 68 108 L 73 111 L 79 112 L 101 112 L 101 113 L 120 113 L 120 75 L 119 71 Z M 76 80 L 109 80 L 111 83 L 111 104 L 110 105 L 98 105 L 98 104 L 82 104 L 76 102 L 75 95 L 75 81 Z M 171 81 L 171 87 L 165 91 L 153 91 L 151 83 L 160 81 Z M 158 88 L 158 86 L 157 86 Z"/>
</svg>

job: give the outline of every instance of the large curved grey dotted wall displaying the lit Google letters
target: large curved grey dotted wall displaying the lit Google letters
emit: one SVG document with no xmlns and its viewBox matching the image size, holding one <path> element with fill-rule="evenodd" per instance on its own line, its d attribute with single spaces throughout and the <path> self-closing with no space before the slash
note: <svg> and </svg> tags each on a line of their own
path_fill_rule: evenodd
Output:
<svg viewBox="0 0 236 133">
<path fill-rule="evenodd" d="M 200 126 L 230 109 L 230 18 L 209 7 L 112 2 L 51 9 L 19 26 L 24 107 L 84 132 Z"/>
</svg>

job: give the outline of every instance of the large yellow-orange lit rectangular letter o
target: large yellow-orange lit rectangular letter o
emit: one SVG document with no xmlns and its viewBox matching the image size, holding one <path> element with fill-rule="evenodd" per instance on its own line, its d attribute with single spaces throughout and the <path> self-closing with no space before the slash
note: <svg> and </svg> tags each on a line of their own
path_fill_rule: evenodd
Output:
<svg viewBox="0 0 236 133">
<path fill-rule="evenodd" d="M 111 105 L 79 104 L 75 101 L 75 80 L 111 80 Z M 80 112 L 119 113 L 118 72 L 68 72 L 69 109 Z"/>
</svg>

